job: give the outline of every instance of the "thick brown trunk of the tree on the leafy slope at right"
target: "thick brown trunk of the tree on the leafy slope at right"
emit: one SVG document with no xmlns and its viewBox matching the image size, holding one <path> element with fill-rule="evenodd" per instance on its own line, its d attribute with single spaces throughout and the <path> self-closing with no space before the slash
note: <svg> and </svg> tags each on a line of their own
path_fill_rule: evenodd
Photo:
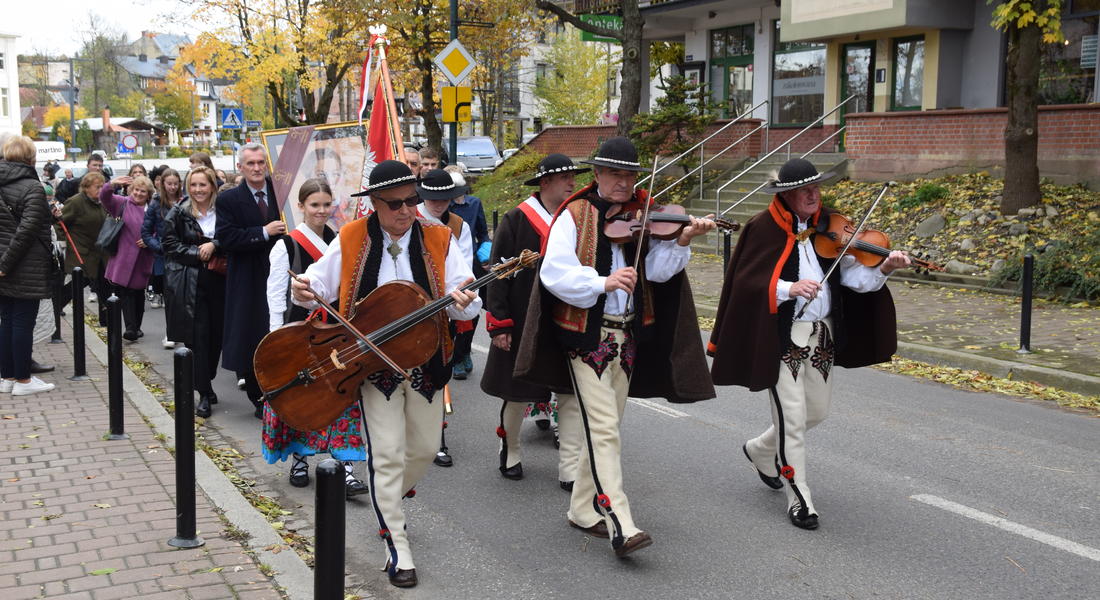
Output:
<svg viewBox="0 0 1100 600">
<path fill-rule="evenodd" d="M 1045 10 L 1041 0 L 1035 10 Z M 1004 193 L 1001 214 L 1015 215 L 1038 204 L 1038 67 L 1042 33 L 1034 24 L 1009 28 L 1005 89 L 1009 120 L 1004 128 Z"/>
</svg>

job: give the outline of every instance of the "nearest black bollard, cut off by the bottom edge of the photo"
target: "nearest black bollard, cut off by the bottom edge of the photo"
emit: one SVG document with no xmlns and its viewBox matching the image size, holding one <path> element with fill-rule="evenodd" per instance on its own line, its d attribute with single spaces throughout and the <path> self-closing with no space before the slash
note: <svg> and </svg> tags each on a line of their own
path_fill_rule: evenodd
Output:
<svg viewBox="0 0 1100 600">
<path fill-rule="evenodd" d="M 344 597 L 344 471 L 343 463 L 326 458 L 317 466 L 317 538 L 314 541 L 314 598 Z"/>
</svg>

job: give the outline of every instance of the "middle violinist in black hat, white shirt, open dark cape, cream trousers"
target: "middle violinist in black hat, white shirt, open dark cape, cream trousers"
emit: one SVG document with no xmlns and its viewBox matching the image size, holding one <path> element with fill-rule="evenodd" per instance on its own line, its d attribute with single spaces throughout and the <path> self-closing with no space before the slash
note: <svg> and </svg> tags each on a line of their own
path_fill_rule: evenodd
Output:
<svg viewBox="0 0 1100 600">
<path fill-rule="evenodd" d="M 692 218 L 675 239 L 647 238 L 635 266 L 638 242 L 615 243 L 604 226 L 613 207 L 637 210 L 648 200 L 635 190 L 647 170 L 626 138 L 607 140 L 584 162 L 595 166 L 595 182 L 566 199 L 550 227 L 515 374 L 548 388 L 572 384 L 584 448 L 569 523 L 609 537 L 623 557 L 652 544 L 635 525 L 623 489 L 619 423 L 627 394 L 714 397 L 683 269 L 692 239 L 715 225 Z"/>
</svg>

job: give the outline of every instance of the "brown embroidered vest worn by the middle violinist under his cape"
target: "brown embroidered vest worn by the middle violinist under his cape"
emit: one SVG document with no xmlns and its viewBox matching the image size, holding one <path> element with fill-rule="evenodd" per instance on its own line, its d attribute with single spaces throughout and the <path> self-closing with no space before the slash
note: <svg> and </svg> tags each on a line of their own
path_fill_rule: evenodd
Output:
<svg viewBox="0 0 1100 600">
<path fill-rule="evenodd" d="M 569 210 L 576 223 L 576 259 L 583 266 L 591 266 L 602 276 L 607 276 L 610 274 L 612 242 L 602 234 L 606 207 L 601 210 L 590 197 L 584 196 L 586 192 L 594 195 L 595 188 L 590 186 L 566 200 L 559 209 L 559 215 L 562 209 Z M 623 251 L 632 257 L 634 248 L 634 242 L 627 243 L 623 246 Z M 646 265 L 642 261 L 638 273 L 641 285 L 635 288 L 634 294 L 635 312 L 641 315 L 641 318 L 634 320 L 636 334 L 640 334 L 640 329 L 651 326 L 656 320 L 652 303 L 648 301 L 651 294 L 645 272 Z M 566 348 L 591 350 L 598 345 L 606 298 L 606 294 L 602 294 L 591 308 L 580 308 L 556 298 L 552 308 L 553 323 L 558 326 L 559 339 Z"/>
</svg>

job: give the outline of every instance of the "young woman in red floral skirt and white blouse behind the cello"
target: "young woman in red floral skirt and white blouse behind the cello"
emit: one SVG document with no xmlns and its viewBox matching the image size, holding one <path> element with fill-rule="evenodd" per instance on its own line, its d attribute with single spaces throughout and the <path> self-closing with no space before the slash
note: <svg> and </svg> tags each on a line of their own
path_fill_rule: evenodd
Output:
<svg viewBox="0 0 1100 600">
<path fill-rule="evenodd" d="M 298 210 L 301 222 L 290 233 L 283 236 L 272 247 L 271 270 L 267 274 L 268 329 L 275 330 L 286 323 L 306 320 L 309 310 L 289 302 L 290 275 L 305 273 L 336 239 L 337 234 L 326 225 L 332 215 L 332 188 L 321 178 L 306 179 L 298 189 Z M 317 316 L 322 318 L 323 316 Z M 328 452 L 343 462 L 344 497 L 366 493 L 367 487 L 353 474 L 355 461 L 366 460 L 363 445 L 362 411 L 352 404 L 339 418 L 320 432 L 299 432 L 283 422 L 270 404 L 264 403 L 264 427 L 261 434 L 264 459 L 270 465 L 293 457 L 290 484 L 305 488 L 309 484 L 309 463 L 306 457 Z"/>
</svg>

